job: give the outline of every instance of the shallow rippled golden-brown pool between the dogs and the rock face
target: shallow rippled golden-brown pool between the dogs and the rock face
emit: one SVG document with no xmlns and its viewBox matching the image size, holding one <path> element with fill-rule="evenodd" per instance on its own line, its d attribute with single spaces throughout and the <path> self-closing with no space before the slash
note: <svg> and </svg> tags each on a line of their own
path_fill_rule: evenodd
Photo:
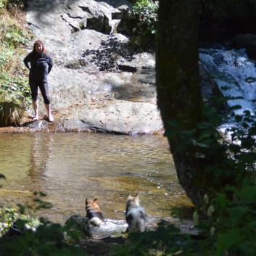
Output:
<svg viewBox="0 0 256 256">
<path fill-rule="evenodd" d="M 0 134 L 1 205 L 32 202 L 44 191 L 54 207 L 37 212 L 65 221 L 85 215 L 85 199 L 98 197 L 105 218 L 124 218 L 127 194 L 139 192 L 153 218 L 190 207 L 178 184 L 168 141 L 162 136 L 99 133 Z"/>
</svg>

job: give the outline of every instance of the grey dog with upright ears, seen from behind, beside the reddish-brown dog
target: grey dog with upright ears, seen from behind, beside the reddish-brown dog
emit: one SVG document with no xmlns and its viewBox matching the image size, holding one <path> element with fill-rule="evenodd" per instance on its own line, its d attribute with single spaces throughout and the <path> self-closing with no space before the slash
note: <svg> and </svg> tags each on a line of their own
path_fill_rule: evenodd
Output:
<svg viewBox="0 0 256 256">
<path fill-rule="evenodd" d="M 128 194 L 126 199 L 125 220 L 128 223 L 126 232 L 143 232 L 146 227 L 147 215 L 139 204 L 139 195 L 132 197 Z"/>
</svg>

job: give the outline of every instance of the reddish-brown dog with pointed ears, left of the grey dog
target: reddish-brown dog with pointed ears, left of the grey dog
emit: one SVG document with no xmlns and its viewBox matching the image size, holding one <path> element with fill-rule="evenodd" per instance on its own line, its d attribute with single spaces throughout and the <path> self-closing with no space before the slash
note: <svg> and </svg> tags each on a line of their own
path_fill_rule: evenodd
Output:
<svg viewBox="0 0 256 256">
<path fill-rule="evenodd" d="M 86 198 L 86 217 L 89 219 L 89 223 L 94 226 L 101 226 L 104 223 L 104 216 L 97 204 L 97 198 L 94 200 Z"/>
</svg>

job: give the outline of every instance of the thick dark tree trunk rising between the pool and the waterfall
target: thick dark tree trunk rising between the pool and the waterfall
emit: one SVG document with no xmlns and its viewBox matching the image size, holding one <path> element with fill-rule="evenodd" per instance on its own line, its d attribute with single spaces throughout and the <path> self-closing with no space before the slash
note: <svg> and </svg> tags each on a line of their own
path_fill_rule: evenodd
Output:
<svg viewBox="0 0 256 256">
<path fill-rule="evenodd" d="M 198 69 L 197 0 L 160 0 L 157 35 L 157 104 L 176 165 L 178 179 L 196 205 L 202 205 L 206 179 L 202 162 L 192 152 L 179 150 L 180 137 L 169 136 L 173 123 L 187 131 L 202 120 Z"/>
</svg>

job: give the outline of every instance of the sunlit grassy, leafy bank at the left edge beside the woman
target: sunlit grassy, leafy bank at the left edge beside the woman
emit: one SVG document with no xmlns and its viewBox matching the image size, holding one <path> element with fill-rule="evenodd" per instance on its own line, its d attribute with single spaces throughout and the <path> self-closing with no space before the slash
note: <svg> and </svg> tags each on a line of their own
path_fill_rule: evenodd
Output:
<svg viewBox="0 0 256 256">
<path fill-rule="evenodd" d="M 1 125 L 20 123 L 22 113 L 31 102 L 28 71 L 20 56 L 24 53 L 22 46 L 33 34 L 22 25 L 23 6 L 20 0 L 0 0 Z M 15 116 L 8 117 L 9 112 Z"/>
</svg>

